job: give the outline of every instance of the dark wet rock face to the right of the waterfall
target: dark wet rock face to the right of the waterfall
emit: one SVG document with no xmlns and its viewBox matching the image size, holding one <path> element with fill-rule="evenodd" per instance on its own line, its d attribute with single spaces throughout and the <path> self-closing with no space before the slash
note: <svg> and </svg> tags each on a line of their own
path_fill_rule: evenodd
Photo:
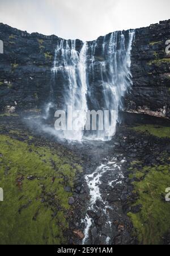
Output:
<svg viewBox="0 0 170 256">
<path fill-rule="evenodd" d="M 133 89 L 126 110 L 155 116 L 170 116 L 170 20 L 135 31 L 131 52 Z M 153 112 L 152 112 L 153 111 Z"/>
</svg>

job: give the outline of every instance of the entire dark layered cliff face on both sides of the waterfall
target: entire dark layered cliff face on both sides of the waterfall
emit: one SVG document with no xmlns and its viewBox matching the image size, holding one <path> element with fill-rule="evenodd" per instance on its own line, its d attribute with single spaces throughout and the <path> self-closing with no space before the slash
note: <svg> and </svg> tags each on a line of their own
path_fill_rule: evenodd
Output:
<svg viewBox="0 0 170 256">
<path fill-rule="evenodd" d="M 129 31 L 123 33 L 126 38 Z M 99 66 L 104 59 L 101 48 L 109 36 L 111 34 L 88 42 L 88 45 L 96 44 L 96 72 L 95 75 L 90 74 L 90 86 L 101 106 Z M 124 99 L 125 111 L 170 117 L 170 56 L 165 52 L 165 42 L 169 39 L 170 20 L 135 30 L 131 51 L 133 86 Z M 55 86 L 52 76 L 54 52 L 61 39 L 54 35 L 29 34 L 1 23 L 0 40 L 3 41 L 0 110 L 9 107 L 14 107 L 16 111 L 42 109 L 49 102 L 52 92 L 58 106 L 61 106 L 62 76 L 59 76 Z M 76 40 L 76 51 L 80 52 L 82 46 L 83 42 Z"/>
</svg>

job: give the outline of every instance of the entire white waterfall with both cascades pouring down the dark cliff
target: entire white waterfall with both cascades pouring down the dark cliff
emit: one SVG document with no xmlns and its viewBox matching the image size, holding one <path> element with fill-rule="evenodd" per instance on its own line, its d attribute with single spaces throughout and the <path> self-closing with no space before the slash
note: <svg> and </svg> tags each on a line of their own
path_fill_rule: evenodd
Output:
<svg viewBox="0 0 170 256">
<path fill-rule="evenodd" d="M 118 111 L 122 99 L 132 85 L 130 65 L 134 31 L 113 32 L 101 41 L 84 42 L 59 40 L 52 74 L 55 85 L 61 86 L 63 110 L 73 109 L 74 130 L 63 131 L 67 140 L 110 140 L 116 133 Z M 57 95 L 56 95 L 57 98 Z M 105 121 L 107 131 L 84 134 L 88 110 L 112 110 L 111 120 Z"/>
</svg>

